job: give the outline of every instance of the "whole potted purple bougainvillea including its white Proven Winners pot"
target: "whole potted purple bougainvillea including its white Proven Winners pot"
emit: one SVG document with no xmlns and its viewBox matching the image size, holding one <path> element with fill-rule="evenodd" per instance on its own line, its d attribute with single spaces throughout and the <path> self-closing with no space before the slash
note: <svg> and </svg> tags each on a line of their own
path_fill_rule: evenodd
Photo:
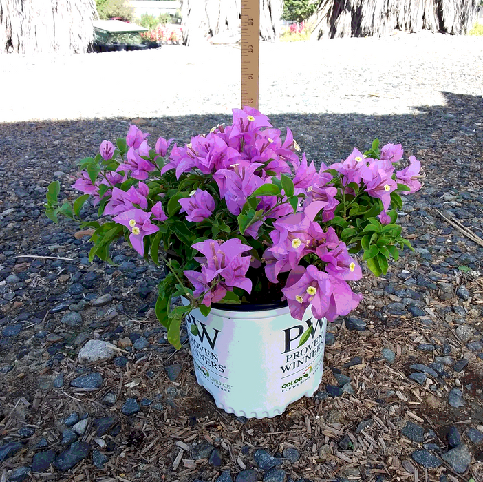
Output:
<svg viewBox="0 0 483 482">
<path fill-rule="evenodd" d="M 59 205 L 52 182 L 47 216 L 78 220 L 92 198 L 90 260 L 112 263 L 109 244 L 124 236 L 167 266 L 156 315 L 176 348 L 186 319 L 197 381 L 227 412 L 277 415 L 314 393 L 326 322 L 361 300 L 349 284 L 362 277 L 355 255 L 380 275 L 411 248 L 396 209 L 400 193 L 420 189 L 420 163 L 396 171 L 401 146 L 374 140 L 317 170 L 290 129 L 283 137 L 250 107 L 184 146 L 152 148 L 148 136 L 131 125 L 116 146 L 104 140 L 81 160 L 73 205 Z"/>
</svg>

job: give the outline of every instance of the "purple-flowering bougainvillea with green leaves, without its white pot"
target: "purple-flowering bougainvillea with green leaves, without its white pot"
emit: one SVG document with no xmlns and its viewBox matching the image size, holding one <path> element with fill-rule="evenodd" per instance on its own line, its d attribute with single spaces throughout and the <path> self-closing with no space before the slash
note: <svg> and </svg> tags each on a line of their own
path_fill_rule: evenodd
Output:
<svg viewBox="0 0 483 482">
<path fill-rule="evenodd" d="M 420 163 L 396 170 L 401 145 L 364 153 L 316 169 L 290 129 L 282 136 L 251 107 L 233 109 L 233 124 L 213 127 L 189 144 L 171 146 L 131 125 L 116 145 L 104 140 L 94 158 L 81 160 L 73 205 L 58 203 L 52 182 L 46 213 L 74 220 L 88 198 L 99 220 L 89 253 L 112 263 L 109 245 L 123 236 L 134 250 L 167 266 L 156 314 L 180 347 L 180 323 L 213 303 L 287 300 L 301 319 L 308 306 L 317 319 L 347 315 L 361 295 L 348 282 L 362 277 L 353 255 L 375 274 L 411 248 L 396 224 L 400 193 L 420 189 Z M 152 145 L 152 144 L 151 144 Z M 411 248 L 412 249 L 412 248 Z M 172 306 L 182 296 L 186 306 Z"/>
</svg>

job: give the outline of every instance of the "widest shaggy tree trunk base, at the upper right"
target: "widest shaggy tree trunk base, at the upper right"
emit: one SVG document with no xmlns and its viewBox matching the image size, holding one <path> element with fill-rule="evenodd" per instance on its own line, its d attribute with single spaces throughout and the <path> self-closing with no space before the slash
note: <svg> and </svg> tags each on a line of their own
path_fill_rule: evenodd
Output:
<svg viewBox="0 0 483 482">
<path fill-rule="evenodd" d="M 313 39 L 387 36 L 422 29 L 465 34 L 473 26 L 477 0 L 319 0 L 310 19 Z"/>
</svg>

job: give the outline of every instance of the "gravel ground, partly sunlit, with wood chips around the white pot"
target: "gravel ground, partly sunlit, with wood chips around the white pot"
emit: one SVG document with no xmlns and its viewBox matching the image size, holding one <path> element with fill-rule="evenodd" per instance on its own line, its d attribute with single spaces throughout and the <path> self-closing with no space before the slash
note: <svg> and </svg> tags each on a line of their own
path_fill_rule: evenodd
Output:
<svg viewBox="0 0 483 482">
<path fill-rule="evenodd" d="M 91 265 L 74 224 L 43 215 L 50 180 L 73 198 L 76 161 L 131 121 L 178 140 L 229 121 L 237 48 L 3 56 L 2 482 L 482 480 L 482 244 L 454 226 L 483 238 L 482 48 L 432 34 L 261 45 L 261 110 L 310 158 L 378 136 L 427 176 L 400 213 L 416 253 L 358 284 L 319 392 L 261 421 L 217 410 L 186 346 L 167 344 L 160 270 L 121 243 L 117 268 Z"/>
</svg>

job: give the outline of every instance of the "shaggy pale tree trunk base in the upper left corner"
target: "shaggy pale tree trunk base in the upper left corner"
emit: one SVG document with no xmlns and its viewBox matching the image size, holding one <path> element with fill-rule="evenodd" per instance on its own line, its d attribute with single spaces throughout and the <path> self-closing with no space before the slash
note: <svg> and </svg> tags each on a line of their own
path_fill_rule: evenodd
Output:
<svg viewBox="0 0 483 482">
<path fill-rule="evenodd" d="M 94 39 L 95 0 L 0 0 L 0 53 L 82 53 Z"/>
</svg>

